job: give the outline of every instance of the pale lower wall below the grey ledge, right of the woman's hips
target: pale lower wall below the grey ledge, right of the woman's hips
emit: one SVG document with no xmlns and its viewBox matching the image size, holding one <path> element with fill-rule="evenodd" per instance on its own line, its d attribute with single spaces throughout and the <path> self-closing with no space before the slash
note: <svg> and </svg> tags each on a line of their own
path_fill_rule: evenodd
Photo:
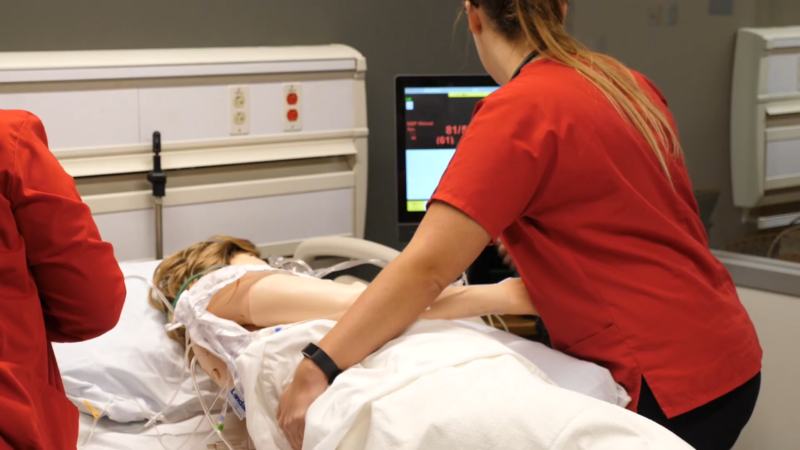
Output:
<svg viewBox="0 0 800 450">
<path fill-rule="evenodd" d="M 761 396 L 734 450 L 800 448 L 800 298 L 739 288 L 764 348 Z"/>
</svg>

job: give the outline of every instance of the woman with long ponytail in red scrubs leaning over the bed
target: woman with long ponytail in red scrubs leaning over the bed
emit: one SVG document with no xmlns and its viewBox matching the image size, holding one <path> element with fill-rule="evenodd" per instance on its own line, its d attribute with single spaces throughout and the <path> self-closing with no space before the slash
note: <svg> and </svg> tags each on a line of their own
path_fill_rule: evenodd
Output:
<svg viewBox="0 0 800 450">
<path fill-rule="evenodd" d="M 607 367 L 632 410 L 697 449 L 730 449 L 762 352 L 709 251 L 663 95 L 568 36 L 565 0 L 468 0 L 466 12 L 502 87 L 476 108 L 412 242 L 321 352 L 358 363 L 502 238 L 556 349 Z M 315 358 L 280 405 L 295 445 L 327 386 Z"/>
</svg>

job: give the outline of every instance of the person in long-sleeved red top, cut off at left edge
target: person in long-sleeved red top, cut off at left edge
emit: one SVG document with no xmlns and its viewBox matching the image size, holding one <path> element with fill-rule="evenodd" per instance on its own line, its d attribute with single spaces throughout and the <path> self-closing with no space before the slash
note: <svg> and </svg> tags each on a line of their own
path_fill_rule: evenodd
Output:
<svg viewBox="0 0 800 450">
<path fill-rule="evenodd" d="M 42 122 L 0 110 L 0 450 L 76 448 L 52 342 L 112 329 L 125 282 L 47 146 Z"/>
</svg>

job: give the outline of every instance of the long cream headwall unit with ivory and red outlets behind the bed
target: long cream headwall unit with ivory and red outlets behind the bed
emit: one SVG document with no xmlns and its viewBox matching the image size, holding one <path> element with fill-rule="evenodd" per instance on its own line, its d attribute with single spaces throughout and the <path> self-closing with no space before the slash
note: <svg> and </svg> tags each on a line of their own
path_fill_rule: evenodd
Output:
<svg viewBox="0 0 800 450">
<path fill-rule="evenodd" d="M 289 255 L 363 238 L 365 72 L 343 45 L 4 53 L 0 105 L 42 119 L 120 261 L 155 255 L 155 131 L 165 254 L 229 234 Z"/>
</svg>

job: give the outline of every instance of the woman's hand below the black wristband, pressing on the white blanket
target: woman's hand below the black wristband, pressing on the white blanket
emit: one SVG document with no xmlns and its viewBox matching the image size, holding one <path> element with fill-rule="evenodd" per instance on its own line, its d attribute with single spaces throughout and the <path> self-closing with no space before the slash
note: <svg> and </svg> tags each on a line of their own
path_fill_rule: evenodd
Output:
<svg viewBox="0 0 800 450">
<path fill-rule="evenodd" d="M 294 450 L 303 448 L 308 408 L 326 389 L 328 378 L 325 373 L 313 362 L 303 359 L 278 403 L 278 426 Z"/>
</svg>

